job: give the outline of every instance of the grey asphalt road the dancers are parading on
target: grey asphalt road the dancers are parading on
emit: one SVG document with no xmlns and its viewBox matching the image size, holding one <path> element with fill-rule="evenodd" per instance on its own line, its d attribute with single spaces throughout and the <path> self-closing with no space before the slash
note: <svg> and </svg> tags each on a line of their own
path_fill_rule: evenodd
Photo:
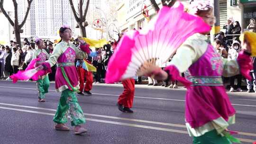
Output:
<svg viewBox="0 0 256 144">
<path fill-rule="evenodd" d="M 37 102 L 35 82 L 0 81 L 0 144 L 192 144 L 184 126 L 185 89 L 136 85 L 133 110 L 116 106 L 120 84 L 94 84 L 93 95 L 77 96 L 88 133 L 55 131 L 53 116 L 60 93 L 51 83 L 46 102 Z M 234 92 L 229 98 L 237 110 L 230 130 L 242 144 L 256 141 L 256 93 Z"/>
</svg>

